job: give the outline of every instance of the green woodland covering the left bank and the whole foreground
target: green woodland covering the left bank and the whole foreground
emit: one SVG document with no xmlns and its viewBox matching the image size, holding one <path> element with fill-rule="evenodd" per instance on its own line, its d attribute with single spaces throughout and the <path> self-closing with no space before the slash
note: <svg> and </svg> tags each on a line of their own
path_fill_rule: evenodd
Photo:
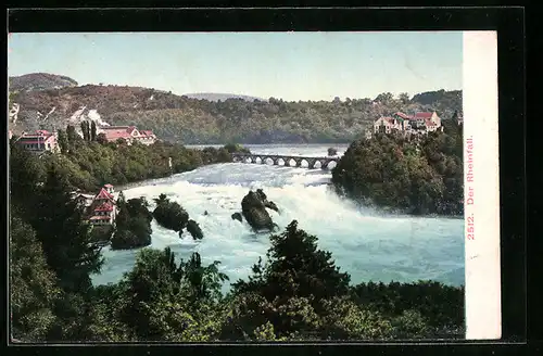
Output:
<svg viewBox="0 0 543 356">
<path fill-rule="evenodd" d="M 103 257 L 71 198 L 74 187 L 151 177 L 157 173 L 150 173 L 147 162 L 163 153 L 176 157 L 176 169 L 219 160 L 222 153 L 163 143 L 113 148 L 76 139 L 72 129 L 62 144 L 63 153 L 41 157 L 10 145 L 10 307 L 16 341 L 464 336 L 463 288 L 431 281 L 353 285 L 331 253 L 318 247 L 317 237 L 295 220 L 269 236 L 265 260 L 255 260 L 245 280 L 229 281 L 220 262 L 205 265 L 198 253 L 179 260 L 168 249 L 142 249 L 119 282 L 92 285 L 90 276 L 100 272 Z M 84 169 L 90 170 L 84 175 Z M 137 202 L 132 211 L 151 218 Z M 224 294 L 228 282 L 231 290 Z"/>
</svg>

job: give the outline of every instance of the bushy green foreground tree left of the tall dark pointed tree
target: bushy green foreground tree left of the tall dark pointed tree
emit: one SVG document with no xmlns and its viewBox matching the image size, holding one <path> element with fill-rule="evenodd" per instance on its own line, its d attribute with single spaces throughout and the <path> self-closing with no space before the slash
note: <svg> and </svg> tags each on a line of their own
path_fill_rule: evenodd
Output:
<svg viewBox="0 0 543 356">
<path fill-rule="evenodd" d="M 210 329 L 218 327 L 216 321 L 215 327 L 210 325 L 209 318 L 219 308 L 215 297 L 226 280 L 217 264 L 204 267 L 200 255 L 194 253 L 187 263 L 181 260 L 177 265 L 169 247 L 143 249 L 136 266 L 122 281 L 128 301 L 122 310 L 123 320 L 141 341 L 209 339 Z"/>
</svg>

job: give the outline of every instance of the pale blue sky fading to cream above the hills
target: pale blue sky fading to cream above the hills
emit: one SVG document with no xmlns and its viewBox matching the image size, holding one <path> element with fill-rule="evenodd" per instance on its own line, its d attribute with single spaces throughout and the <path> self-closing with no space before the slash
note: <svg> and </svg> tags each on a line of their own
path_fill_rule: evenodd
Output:
<svg viewBox="0 0 543 356">
<path fill-rule="evenodd" d="M 9 76 L 286 101 L 462 89 L 462 31 L 10 34 Z"/>
</svg>

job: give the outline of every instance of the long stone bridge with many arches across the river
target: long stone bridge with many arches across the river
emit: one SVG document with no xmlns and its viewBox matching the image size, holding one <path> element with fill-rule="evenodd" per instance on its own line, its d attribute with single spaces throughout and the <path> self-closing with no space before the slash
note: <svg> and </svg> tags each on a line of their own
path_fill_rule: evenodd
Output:
<svg viewBox="0 0 543 356">
<path fill-rule="evenodd" d="M 300 167 L 317 169 L 317 163 L 320 165 L 320 169 L 328 169 L 328 165 L 331 162 L 338 164 L 339 157 L 305 157 L 305 156 L 290 156 L 290 155 L 277 155 L 277 154 L 247 154 L 247 153 L 232 153 L 233 162 L 241 163 L 255 163 L 255 164 L 268 164 L 272 163 L 274 166 L 279 166 L 280 161 L 282 165 L 287 167 Z M 294 162 L 294 165 L 291 162 Z M 306 167 L 302 166 L 302 163 L 307 164 Z M 331 168 L 331 167 L 330 167 Z"/>
</svg>

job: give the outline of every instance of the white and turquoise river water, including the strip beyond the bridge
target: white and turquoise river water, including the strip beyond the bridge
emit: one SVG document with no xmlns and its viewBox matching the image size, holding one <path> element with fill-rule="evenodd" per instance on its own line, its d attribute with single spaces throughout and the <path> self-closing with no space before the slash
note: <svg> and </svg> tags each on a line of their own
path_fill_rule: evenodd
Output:
<svg viewBox="0 0 543 356">
<path fill-rule="evenodd" d="M 290 147 L 288 154 L 324 156 L 326 149 Z M 287 154 L 273 147 L 251 147 L 251 151 Z M 338 152 L 344 149 L 338 148 Z M 151 209 L 152 200 L 161 193 L 180 203 L 202 228 L 203 240 L 193 241 L 188 232 L 180 239 L 153 220 L 151 247 L 169 246 L 185 259 L 199 252 L 205 264 L 220 260 L 220 269 L 230 282 L 245 279 L 258 256 L 265 259 L 270 245 L 269 234 L 256 234 L 245 221 L 231 219 L 231 214 L 241 211 L 241 200 L 249 190 L 263 188 L 280 209 L 269 213 L 281 231 L 298 220 L 299 228 L 317 236 L 319 249 L 332 253 L 336 264 L 351 275 L 353 283 L 432 279 L 464 284 L 463 219 L 377 214 L 339 198 L 327 186 L 329 179 L 330 173 L 320 169 L 229 163 L 147 181 L 123 192 L 127 199 L 146 196 Z M 105 247 L 102 274 L 94 276 L 93 282 L 118 281 L 123 272 L 132 268 L 138 251 Z M 227 283 L 224 290 L 228 288 Z"/>
</svg>

